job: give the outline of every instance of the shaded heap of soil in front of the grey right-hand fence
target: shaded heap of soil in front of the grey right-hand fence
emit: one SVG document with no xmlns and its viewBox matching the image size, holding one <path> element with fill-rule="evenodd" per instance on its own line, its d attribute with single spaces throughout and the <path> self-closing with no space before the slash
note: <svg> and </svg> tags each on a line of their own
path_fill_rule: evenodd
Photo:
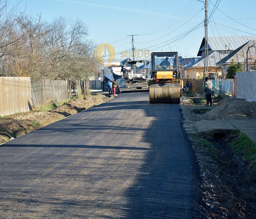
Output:
<svg viewBox="0 0 256 219">
<path fill-rule="evenodd" d="M 245 99 L 226 97 L 219 101 L 203 119 L 256 119 L 256 103 Z"/>
</svg>

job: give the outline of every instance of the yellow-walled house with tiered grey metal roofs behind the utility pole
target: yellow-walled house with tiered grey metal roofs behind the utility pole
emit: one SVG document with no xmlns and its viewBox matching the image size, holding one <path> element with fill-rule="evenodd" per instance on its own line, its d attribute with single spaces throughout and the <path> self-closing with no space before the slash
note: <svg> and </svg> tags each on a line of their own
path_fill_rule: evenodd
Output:
<svg viewBox="0 0 256 219">
<path fill-rule="evenodd" d="M 222 65 L 220 63 L 223 63 L 224 58 L 251 40 L 256 40 L 256 36 L 208 37 L 208 73 L 217 73 L 217 76 L 222 76 Z M 205 39 L 203 38 L 197 54 L 201 58 L 194 64 L 185 66 L 188 78 L 203 77 L 204 43 Z"/>
</svg>

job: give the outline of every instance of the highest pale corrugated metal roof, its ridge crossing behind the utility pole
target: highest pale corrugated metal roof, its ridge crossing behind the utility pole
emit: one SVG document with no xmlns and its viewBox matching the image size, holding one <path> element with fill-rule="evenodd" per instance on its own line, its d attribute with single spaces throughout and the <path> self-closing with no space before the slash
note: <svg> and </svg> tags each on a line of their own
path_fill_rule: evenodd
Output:
<svg viewBox="0 0 256 219">
<path fill-rule="evenodd" d="M 227 36 L 227 37 L 208 37 L 208 49 L 212 51 L 231 50 L 234 51 L 244 43 L 256 40 L 256 36 Z M 197 56 L 201 56 L 204 50 L 204 38 L 199 48 Z"/>
</svg>

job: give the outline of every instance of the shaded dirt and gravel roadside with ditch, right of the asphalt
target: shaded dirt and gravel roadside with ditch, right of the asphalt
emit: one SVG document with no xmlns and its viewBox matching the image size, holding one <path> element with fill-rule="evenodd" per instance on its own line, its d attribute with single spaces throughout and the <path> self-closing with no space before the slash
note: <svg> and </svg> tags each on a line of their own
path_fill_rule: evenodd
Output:
<svg viewBox="0 0 256 219">
<path fill-rule="evenodd" d="M 204 216 L 256 218 L 255 169 L 232 148 L 240 135 L 232 121 L 250 124 L 256 103 L 226 97 L 215 99 L 213 107 L 204 104 L 204 96 L 184 96 L 181 103 L 184 130 L 200 166 Z"/>
</svg>

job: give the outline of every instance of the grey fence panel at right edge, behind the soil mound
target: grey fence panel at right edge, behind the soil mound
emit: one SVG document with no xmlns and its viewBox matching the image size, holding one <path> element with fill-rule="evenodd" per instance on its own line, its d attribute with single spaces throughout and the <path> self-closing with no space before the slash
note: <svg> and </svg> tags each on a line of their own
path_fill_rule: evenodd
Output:
<svg viewBox="0 0 256 219">
<path fill-rule="evenodd" d="M 256 72 L 236 73 L 236 97 L 256 101 Z"/>
</svg>

